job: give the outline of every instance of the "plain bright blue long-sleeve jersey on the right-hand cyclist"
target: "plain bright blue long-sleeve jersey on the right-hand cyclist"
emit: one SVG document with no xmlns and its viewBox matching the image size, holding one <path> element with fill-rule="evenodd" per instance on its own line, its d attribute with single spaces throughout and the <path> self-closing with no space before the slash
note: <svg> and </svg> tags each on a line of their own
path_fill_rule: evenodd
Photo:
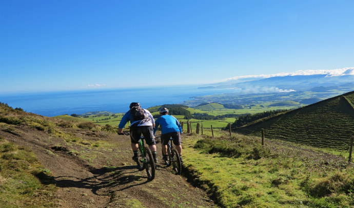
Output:
<svg viewBox="0 0 354 208">
<path fill-rule="evenodd" d="M 171 115 L 163 115 L 155 120 L 155 128 L 153 130 L 154 135 L 159 126 L 161 128 L 161 134 L 167 134 L 170 132 L 181 132 L 182 134 L 180 122 L 178 122 L 177 118 Z"/>
</svg>

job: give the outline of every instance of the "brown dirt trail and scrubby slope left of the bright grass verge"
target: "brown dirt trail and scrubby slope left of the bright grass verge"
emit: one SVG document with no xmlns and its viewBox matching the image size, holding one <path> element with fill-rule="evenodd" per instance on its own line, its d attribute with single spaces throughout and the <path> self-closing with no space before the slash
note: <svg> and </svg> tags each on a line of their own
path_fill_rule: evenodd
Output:
<svg viewBox="0 0 354 208">
<path fill-rule="evenodd" d="M 29 173 L 32 176 L 22 177 L 36 176 L 40 181 L 36 184 L 55 186 L 32 191 L 29 180 L 7 174 L 2 163 L 0 207 L 215 207 L 206 193 L 162 163 L 155 179 L 148 181 L 146 172 L 137 171 L 131 160 L 130 137 L 103 130 L 90 122 L 44 117 L 0 103 L 2 159 L 12 164 L 13 172 L 36 169 Z M 27 147 L 20 149 L 32 151 L 41 165 L 30 167 L 31 163 L 21 161 L 17 152 L 22 152 L 11 148 L 12 143 Z M 2 192 L 4 183 L 18 187 L 20 194 Z"/>
</svg>

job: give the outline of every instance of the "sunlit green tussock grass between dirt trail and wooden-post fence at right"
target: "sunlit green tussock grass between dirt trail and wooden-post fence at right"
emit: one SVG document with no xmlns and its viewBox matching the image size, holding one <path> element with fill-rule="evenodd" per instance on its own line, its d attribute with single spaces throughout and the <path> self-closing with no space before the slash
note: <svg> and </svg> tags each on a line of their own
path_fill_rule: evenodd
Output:
<svg viewBox="0 0 354 208">
<path fill-rule="evenodd" d="M 345 158 L 243 135 L 183 141 L 185 172 L 222 207 L 354 206 Z"/>
</svg>

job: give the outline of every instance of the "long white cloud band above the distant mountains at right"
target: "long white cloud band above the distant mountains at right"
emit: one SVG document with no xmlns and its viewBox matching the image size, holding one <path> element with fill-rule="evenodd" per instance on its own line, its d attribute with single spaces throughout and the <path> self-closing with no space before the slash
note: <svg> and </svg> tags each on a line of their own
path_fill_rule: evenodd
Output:
<svg viewBox="0 0 354 208">
<path fill-rule="evenodd" d="M 296 75 L 314 75 L 314 74 L 326 74 L 327 76 L 343 76 L 343 75 L 354 75 L 354 67 L 347 67 L 343 69 L 332 69 L 332 70 L 300 70 L 296 72 L 284 72 L 278 74 L 261 74 L 261 75 L 247 75 L 247 76 L 234 76 L 231 78 L 224 79 L 227 80 L 236 80 L 243 78 L 269 78 L 274 76 L 296 76 Z"/>
</svg>

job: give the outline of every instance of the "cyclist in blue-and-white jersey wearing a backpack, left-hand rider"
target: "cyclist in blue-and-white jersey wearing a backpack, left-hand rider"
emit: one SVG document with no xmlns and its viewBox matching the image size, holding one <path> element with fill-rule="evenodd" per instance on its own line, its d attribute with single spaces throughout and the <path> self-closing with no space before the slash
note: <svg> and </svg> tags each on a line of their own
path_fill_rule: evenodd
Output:
<svg viewBox="0 0 354 208">
<path fill-rule="evenodd" d="M 129 106 L 130 110 L 124 114 L 122 117 L 121 122 L 118 126 L 118 134 L 123 135 L 123 129 L 125 124 L 130 121 L 130 141 L 131 141 L 131 149 L 133 150 L 133 157 L 134 161 L 137 161 L 137 152 L 139 151 L 138 141 L 143 134 L 145 137 L 146 143 L 149 145 L 149 149 L 152 152 L 152 156 L 154 162 L 158 162 L 158 158 L 156 157 L 156 142 L 153 135 L 153 127 L 155 126 L 155 121 L 151 115 L 151 113 L 146 109 L 141 109 L 145 114 L 145 118 L 143 119 L 134 119 L 131 111 L 133 108 L 141 108 L 139 102 L 132 102 Z"/>
</svg>

